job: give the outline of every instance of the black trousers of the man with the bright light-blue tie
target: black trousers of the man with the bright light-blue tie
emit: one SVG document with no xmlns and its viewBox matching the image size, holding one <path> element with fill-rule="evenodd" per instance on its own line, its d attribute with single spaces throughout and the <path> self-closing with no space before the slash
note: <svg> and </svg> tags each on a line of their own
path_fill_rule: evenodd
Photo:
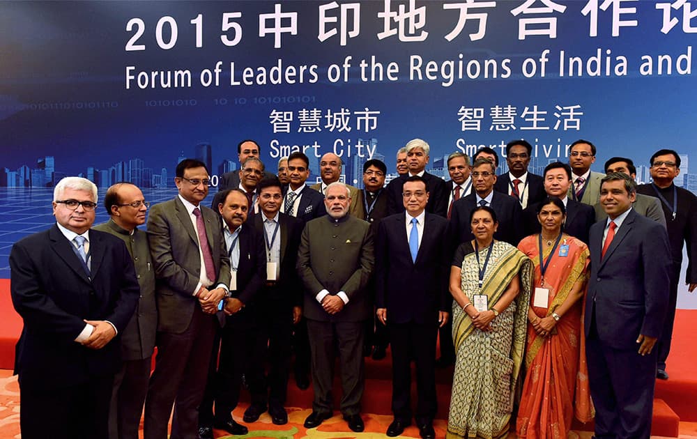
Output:
<svg viewBox="0 0 697 439">
<path fill-rule="evenodd" d="M 416 364 L 416 422 L 429 423 L 436 415 L 437 328 L 436 323 L 388 322 L 392 344 L 392 412 L 395 418 L 411 420 L 411 358 Z"/>
</svg>

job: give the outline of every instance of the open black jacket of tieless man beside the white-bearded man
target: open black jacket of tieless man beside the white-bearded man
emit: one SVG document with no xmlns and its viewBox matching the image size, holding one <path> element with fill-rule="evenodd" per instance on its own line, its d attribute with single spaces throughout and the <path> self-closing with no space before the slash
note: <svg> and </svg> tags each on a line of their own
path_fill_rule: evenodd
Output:
<svg viewBox="0 0 697 439">
<path fill-rule="evenodd" d="M 264 240 L 263 233 L 266 233 L 263 225 L 265 219 L 263 213 L 254 215 L 254 228 L 261 235 L 262 240 Z M 296 270 L 296 262 L 298 261 L 298 247 L 300 247 L 303 226 L 304 224 L 300 219 L 285 213 L 278 214 L 281 259 L 279 275 L 274 284 L 273 292 L 280 293 L 281 296 L 269 298 L 265 295 L 265 298 L 273 302 L 281 300 L 286 305 L 302 307 L 302 287 L 298 278 L 298 270 Z M 266 242 L 264 242 L 263 251 L 266 254 Z"/>
</svg>

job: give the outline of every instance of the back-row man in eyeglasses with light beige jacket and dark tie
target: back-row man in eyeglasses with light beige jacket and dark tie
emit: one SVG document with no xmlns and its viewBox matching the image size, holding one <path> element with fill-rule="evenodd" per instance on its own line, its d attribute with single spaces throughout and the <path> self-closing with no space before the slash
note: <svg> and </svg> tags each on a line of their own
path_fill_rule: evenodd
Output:
<svg viewBox="0 0 697 439">
<path fill-rule="evenodd" d="M 600 201 L 600 180 L 605 174 L 590 170 L 595 162 L 595 145 L 579 139 L 569 146 L 569 166 L 572 170 L 572 185 L 569 198 L 579 203 L 595 206 Z"/>
</svg>

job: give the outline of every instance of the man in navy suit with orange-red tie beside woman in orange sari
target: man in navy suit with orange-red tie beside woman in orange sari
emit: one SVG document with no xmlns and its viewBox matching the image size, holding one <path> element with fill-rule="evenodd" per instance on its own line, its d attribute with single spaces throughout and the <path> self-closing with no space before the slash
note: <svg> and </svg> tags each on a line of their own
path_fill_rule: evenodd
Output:
<svg viewBox="0 0 697 439">
<path fill-rule="evenodd" d="M 671 250 L 666 229 L 632 208 L 626 174 L 602 179 L 608 214 L 590 229 L 585 353 L 596 438 L 651 433 L 657 349 L 668 307 Z"/>
</svg>

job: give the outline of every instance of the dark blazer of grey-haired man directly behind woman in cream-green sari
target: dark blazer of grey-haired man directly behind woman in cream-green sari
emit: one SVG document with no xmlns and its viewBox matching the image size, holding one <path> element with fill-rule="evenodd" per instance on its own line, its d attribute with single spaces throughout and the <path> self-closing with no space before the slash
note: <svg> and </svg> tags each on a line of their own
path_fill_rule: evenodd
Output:
<svg viewBox="0 0 697 439">
<path fill-rule="evenodd" d="M 472 192 L 467 197 L 461 198 L 452 204 L 450 224 L 448 224 L 451 256 L 462 242 L 474 239 L 472 227 L 470 226 L 470 213 L 476 207 L 476 192 Z M 510 245 L 518 245 L 519 240 L 523 238 L 521 204 L 515 197 L 493 191 L 491 208 L 496 212 L 496 219 L 498 219 L 498 229 L 493 234 L 493 238 L 508 242 Z"/>
</svg>

